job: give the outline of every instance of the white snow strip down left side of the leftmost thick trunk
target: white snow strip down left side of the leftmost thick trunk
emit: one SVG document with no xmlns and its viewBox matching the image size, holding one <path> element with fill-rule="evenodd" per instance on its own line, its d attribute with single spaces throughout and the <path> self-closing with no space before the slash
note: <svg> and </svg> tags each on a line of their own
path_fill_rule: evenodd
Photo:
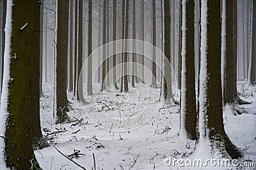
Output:
<svg viewBox="0 0 256 170">
<path fill-rule="evenodd" d="M 12 37 L 12 6 L 13 1 L 7 1 L 6 6 L 6 25 L 5 25 L 5 48 L 4 48 L 4 73 L 3 73 L 3 87 L 1 95 L 1 111 L 0 111 L 0 169 L 6 169 L 4 162 L 4 136 L 6 129 L 6 118 L 8 117 L 8 82 L 10 81 L 10 46 Z"/>
</svg>

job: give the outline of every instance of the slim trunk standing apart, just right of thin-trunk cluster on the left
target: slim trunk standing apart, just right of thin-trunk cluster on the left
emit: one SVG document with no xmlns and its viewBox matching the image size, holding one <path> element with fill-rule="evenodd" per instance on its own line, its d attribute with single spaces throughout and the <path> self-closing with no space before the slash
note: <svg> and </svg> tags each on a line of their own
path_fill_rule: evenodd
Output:
<svg viewBox="0 0 256 170">
<path fill-rule="evenodd" d="M 92 53 L 92 0 L 88 3 L 88 69 L 87 69 L 87 94 L 92 96 L 92 57 L 89 57 Z"/>
</svg>

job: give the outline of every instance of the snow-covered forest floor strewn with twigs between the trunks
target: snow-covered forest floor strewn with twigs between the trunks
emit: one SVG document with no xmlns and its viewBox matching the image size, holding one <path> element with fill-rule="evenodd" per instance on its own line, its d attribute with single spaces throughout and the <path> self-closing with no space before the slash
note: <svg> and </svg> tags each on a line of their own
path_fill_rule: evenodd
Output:
<svg viewBox="0 0 256 170">
<path fill-rule="evenodd" d="M 256 87 L 249 87 L 244 81 L 239 81 L 237 85 L 242 99 L 252 101 L 252 104 L 241 106 L 248 114 L 236 116 L 229 108 L 225 108 L 225 130 L 232 142 L 243 151 L 244 156 L 239 161 L 252 160 L 254 167 L 248 169 L 255 169 Z M 93 84 L 95 95 L 84 96 L 89 104 L 83 106 L 68 94 L 72 106 L 68 115 L 74 121 L 55 125 L 52 115 L 53 84 L 44 83 L 40 117 L 42 132 L 50 146 L 35 150 L 36 159 L 43 169 L 81 169 L 56 148 L 65 155 L 79 150 L 83 155 L 74 155 L 72 160 L 86 169 L 94 168 L 93 154 L 97 169 L 183 169 L 164 164 L 169 157 L 189 158 L 189 153 L 195 147 L 195 141 L 180 140 L 177 136 L 180 126 L 179 106 L 164 107 L 163 103 L 158 102 L 159 89 L 147 89 L 140 83 L 136 89 L 130 90 L 129 96 L 114 94 L 111 90 L 103 94 L 97 90 L 99 86 Z M 215 167 L 230 168 L 244 167 Z"/>
</svg>

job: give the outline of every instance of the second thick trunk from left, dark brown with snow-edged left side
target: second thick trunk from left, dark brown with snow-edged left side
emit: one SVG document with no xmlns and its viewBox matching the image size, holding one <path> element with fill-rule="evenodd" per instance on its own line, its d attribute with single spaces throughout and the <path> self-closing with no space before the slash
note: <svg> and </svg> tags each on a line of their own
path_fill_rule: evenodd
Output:
<svg viewBox="0 0 256 170">
<path fill-rule="evenodd" d="M 54 114 L 55 122 L 63 123 L 69 120 L 67 115 L 67 55 L 68 55 L 68 0 L 58 1 L 58 18 L 56 32 L 56 59 L 55 59 L 55 90 Z"/>
</svg>

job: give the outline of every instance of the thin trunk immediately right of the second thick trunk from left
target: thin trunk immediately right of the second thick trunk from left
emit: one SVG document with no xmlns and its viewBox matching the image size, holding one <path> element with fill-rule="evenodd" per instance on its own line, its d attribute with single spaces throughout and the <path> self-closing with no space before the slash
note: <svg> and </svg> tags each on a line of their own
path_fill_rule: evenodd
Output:
<svg viewBox="0 0 256 170">
<path fill-rule="evenodd" d="M 73 90 L 73 8 L 74 3 L 73 0 L 70 0 L 70 6 L 69 6 L 69 81 L 68 81 L 68 91 L 72 92 Z"/>
</svg>

